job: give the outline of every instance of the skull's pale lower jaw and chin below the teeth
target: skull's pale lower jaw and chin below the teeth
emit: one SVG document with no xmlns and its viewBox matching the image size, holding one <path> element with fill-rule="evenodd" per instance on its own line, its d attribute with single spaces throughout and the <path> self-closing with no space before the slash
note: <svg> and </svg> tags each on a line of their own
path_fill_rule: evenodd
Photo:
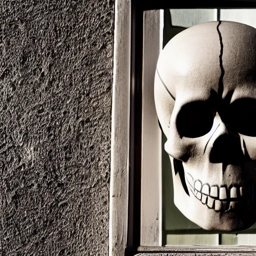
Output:
<svg viewBox="0 0 256 256">
<path fill-rule="evenodd" d="M 178 173 L 174 173 L 173 158 L 171 159 L 174 204 L 189 220 L 205 230 L 225 232 L 240 231 L 249 228 L 256 221 L 255 201 L 239 211 L 217 212 L 202 204 L 189 190 L 185 192 Z"/>
</svg>

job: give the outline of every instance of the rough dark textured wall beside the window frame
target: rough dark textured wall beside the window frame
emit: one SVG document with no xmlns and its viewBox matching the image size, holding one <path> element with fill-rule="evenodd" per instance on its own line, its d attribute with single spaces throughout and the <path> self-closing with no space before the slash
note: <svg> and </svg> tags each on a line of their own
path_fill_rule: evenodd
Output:
<svg viewBox="0 0 256 256">
<path fill-rule="evenodd" d="M 113 7 L 0 1 L 0 255 L 107 255 Z"/>
</svg>

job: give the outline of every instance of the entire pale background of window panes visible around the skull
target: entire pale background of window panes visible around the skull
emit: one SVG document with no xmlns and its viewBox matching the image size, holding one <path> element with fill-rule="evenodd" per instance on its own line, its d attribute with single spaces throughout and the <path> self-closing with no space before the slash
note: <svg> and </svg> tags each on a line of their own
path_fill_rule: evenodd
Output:
<svg viewBox="0 0 256 256">
<path fill-rule="evenodd" d="M 164 11 L 163 47 L 182 30 L 207 21 L 236 21 L 256 27 L 256 9 L 170 9 Z M 256 245 L 256 224 L 238 233 L 218 233 L 200 228 L 188 220 L 174 205 L 172 173 L 164 150 L 162 133 L 162 243 L 207 245 Z"/>
</svg>

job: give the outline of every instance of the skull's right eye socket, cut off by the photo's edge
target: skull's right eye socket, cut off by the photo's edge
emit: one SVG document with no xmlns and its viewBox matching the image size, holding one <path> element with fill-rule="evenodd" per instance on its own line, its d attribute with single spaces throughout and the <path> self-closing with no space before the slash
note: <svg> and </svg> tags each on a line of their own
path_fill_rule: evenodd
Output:
<svg viewBox="0 0 256 256">
<path fill-rule="evenodd" d="M 256 99 L 240 98 L 229 105 L 228 126 L 232 131 L 256 136 Z"/>
</svg>

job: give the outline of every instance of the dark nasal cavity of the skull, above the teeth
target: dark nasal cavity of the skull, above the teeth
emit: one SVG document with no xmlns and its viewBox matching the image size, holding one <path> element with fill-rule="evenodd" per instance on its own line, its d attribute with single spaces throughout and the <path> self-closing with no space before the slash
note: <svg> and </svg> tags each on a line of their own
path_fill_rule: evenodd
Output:
<svg viewBox="0 0 256 256">
<path fill-rule="evenodd" d="M 210 162 L 225 162 L 240 164 L 244 155 L 241 149 L 240 138 L 237 134 L 222 134 L 215 139 L 210 150 Z"/>
</svg>

